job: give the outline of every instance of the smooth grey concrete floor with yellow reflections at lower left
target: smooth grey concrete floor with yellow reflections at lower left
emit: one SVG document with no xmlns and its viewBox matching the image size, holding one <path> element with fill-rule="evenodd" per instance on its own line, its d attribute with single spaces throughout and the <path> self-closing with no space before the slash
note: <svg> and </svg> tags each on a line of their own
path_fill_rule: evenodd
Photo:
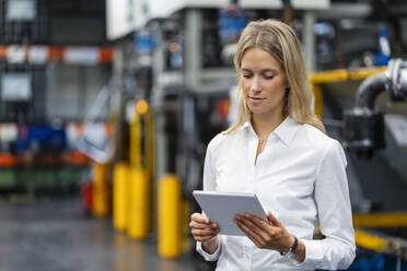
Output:
<svg viewBox="0 0 407 271">
<path fill-rule="evenodd" d="M 0 270 L 210 270 L 191 254 L 161 259 L 156 235 L 137 241 L 112 219 L 84 215 L 79 198 L 10 203 L 0 200 Z"/>
</svg>

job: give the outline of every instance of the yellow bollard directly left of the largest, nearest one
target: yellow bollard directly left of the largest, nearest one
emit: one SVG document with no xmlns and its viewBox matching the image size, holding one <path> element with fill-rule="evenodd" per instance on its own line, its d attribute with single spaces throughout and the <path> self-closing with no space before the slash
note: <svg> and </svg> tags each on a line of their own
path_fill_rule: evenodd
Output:
<svg viewBox="0 0 407 271">
<path fill-rule="evenodd" d="M 143 239 L 150 232 L 150 181 L 146 169 L 130 168 L 128 234 L 136 239 Z"/>
</svg>

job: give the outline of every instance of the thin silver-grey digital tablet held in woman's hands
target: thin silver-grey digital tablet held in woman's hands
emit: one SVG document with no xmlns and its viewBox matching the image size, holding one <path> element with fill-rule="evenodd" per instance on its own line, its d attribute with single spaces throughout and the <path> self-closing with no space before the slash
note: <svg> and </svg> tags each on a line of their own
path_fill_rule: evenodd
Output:
<svg viewBox="0 0 407 271">
<path fill-rule="evenodd" d="M 219 234 L 245 236 L 233 222 L 235 214 L 248 212 L 268 221 L 255 193 L 195 190 L 193 195 L 209 220 L 219 224 L 221 228 Z"/>
</svg>

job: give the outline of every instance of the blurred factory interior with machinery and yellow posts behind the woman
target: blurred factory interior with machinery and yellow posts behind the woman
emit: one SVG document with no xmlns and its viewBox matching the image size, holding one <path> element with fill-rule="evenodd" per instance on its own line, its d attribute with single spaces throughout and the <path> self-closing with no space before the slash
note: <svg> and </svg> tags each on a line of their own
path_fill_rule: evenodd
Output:
<svg viewBox="0 0 407 271">
<path fill-rule="evenodd" d="M 266 19 L 295 31 L 346 153 L 348 270 L 407 271 L 405 0 L 0 0 L 0 271 L 214 270 L 193 191 Z"/>
</svg>

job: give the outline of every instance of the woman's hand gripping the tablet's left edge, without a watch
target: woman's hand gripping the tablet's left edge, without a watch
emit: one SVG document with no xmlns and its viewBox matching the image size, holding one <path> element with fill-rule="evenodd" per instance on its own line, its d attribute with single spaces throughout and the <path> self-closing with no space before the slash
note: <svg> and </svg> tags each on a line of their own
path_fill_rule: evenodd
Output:
<svg viewBox="0 0 407 271">
<path fill-rule="evenodd" d="M 220 227 L 218 223 L 211 222 L 206 215 L 201 213 L 194 213 L 190 215 L 190 233 L 195 240 L 202 243 L 202 248 L 209 254 L 213 254 L 218 246 L 218 234 Z"/>
</svg>

